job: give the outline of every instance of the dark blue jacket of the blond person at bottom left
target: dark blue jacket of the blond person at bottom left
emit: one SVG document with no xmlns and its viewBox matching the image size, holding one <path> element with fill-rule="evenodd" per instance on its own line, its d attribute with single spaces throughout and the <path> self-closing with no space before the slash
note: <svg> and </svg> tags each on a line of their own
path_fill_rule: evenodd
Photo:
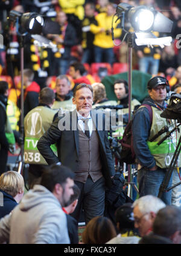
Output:
<svg viewBox="0 0 181 256">
<path fill-rule="evenodd" d="M 17 202 L 14 200 L 14 198 L 4 192 L 0 189 L 0 193 L 3 195 L 3 202 L 4 206 L 0 206 L 0 218 L 4 217 L 7 214 L 10 214 L 10 212 L 14 209 L 14 207 L 17 205 Z"/>
</svg>

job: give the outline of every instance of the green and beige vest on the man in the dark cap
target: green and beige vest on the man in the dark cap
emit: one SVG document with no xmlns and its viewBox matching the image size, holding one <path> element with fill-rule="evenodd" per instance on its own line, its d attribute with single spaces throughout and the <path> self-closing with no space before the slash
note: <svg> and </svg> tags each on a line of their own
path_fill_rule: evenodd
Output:
<svg viewBox="0 0 181 256">
<path fill-rule="evenodd" d="M 180 134 L 179 132 L 173 132 L 171 133 L 172 138 L 167 138 L 162 144 L 159 146 L 157 143 L 164 138 L 166 133 L 163 133 L 160 135 L 156 140 L 153 142 L 150 142 L 151 138 L 153 138 L 154 135 L 156 135 L 160 129 L 164 126 L 168 126 L 169 130 L 172 130 L 174 128 L 174 121 L 170 121 L 169 124 L 167 122 L 166 118 L 162 118 L 160 116 L 160 113 L 162 113 L 161 110 L 156 109 L 156 107 L 151 107 L 153 110 L 153 121 L 151 125 L 150 130 L 150 136 L 148 138 L 147 144 L 150 149 L 151 155 L 153 155 L 154 160 L 156 161 L 156 165 L 160 168 L 168 168 L 170 166 L 171 160 L 173 158 L 174 152 L 176 150 L 177 143 L 179 142 Z M 181 167 L 181 156 L 179 155 L 177 166 Z"/>
</svg>

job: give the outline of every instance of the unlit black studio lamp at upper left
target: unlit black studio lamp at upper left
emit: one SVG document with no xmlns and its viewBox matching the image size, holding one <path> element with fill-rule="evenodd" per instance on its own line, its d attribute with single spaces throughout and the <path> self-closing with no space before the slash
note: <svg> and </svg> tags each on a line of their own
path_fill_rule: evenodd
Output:
<svg viewBox="0 0 181 256">
<path fill-rule="evenodd" d="M 40 34 L 43 29 L 43 17 L 38 13 L 20 13 L 12 10 L 9 15 L 10 22 L 16 22 L 25 33 Z"/>
</svg>

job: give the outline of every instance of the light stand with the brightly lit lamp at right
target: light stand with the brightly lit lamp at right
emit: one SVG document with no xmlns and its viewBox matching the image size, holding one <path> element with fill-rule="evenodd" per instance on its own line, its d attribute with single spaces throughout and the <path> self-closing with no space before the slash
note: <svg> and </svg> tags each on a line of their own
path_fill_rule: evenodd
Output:
<svg viewBox="0 0 181 256">
<path fill-rule="evenodd" d="M 128 36 L 128 84 L 129 84 L 129 122 L 132 120 L 132 56 L 133 56 L 133 41 L 135 41 L 134 36 L 135 32 L 138 39 L 136 39 L 136 44 L 139 45 L 156 45 L 154 42 L 157 42 L 160 47 L 164 47 L 165 45 L 170 45 L 171 37 L 167 38 L 167 42 L 165 42 L 165 38 L 155 38 L 155 36 L 151 33 L 151 31 L 170 33 L 173 21 L 162 15 L 162 13 L 153 10 L 153 8 L 147 8 L 144 5 L 140 5 L 138 7 L 133 7 L 132 5 L 121 3 L 116 7 L 116 16 L 118 19 L 121 19 L 121 29 L 126 32 L 125 36 Z M 114 16 L 115 16 L 114 15 Z M 114 18 L 113 16 L 113 18 Z M 130 27 L 134 29 L 135 32 L 129 32 L 129 29 L 124 29 L 124 19 L 130 22 Z M 141 32 L 141 33 L 138 33 Z M 124 41 L 125 36 L 122 41 Z M 157 41 L 156 41 L 156 40 Z M 113 19 L 112 19 L 112 40 L 114 42 L 113 36 Z M 138 42 L 138 43 L 137 43 Z M 115 44 L 115 42 L 114 42 Z M 116 44 L 115 44 L 116 45 Z M 121 45 L 121 44 L 120 44 Z M 119 45 L 116 45 L 119 46 Z M 130 196 L 131 186 L 136 188 L 135 183 L 132 182 L 132 166 L 128 165 L 128 195 Z M 138 192 L 138 189 L 136 188 Z"/>
</svg>

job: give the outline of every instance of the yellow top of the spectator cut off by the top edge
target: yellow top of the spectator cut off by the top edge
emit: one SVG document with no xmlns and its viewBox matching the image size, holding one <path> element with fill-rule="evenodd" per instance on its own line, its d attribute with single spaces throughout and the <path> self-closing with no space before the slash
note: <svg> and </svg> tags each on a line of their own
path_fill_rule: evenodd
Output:
<svg viewBox="0 0 181 256">
<path fill-rule="evenodd" d="M 84 18 L 84 3 L 85 0 L 59 0 L 59 5 L 63 12 L 74 14 L 80 20 Z"/>
</svg>

